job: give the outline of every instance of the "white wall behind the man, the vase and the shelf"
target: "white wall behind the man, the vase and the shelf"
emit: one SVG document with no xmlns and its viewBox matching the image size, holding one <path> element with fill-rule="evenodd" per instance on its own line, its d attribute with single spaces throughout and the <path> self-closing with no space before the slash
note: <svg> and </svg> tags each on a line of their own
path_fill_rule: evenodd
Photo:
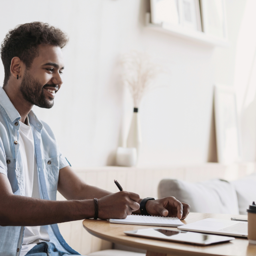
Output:
<svg viewBox="0 0 256 256">
<path fill-rule="evenodd" d="M 213 84 L 233 85 L 235 44 L 245 0 L 227 0 L 230 46 L 213 48 L 144 26 L 146 0 L 4 1 L 0 40 L 17 24 L 43 21 L 66 31 L 64 84 L 52 109 L 35 108 L 55 132 L 75 168 L 113 164 L 132 114 L 119 58 L 132 49 L 146 51 L 167 74 L 162 87 L 140 106 L 141 166 L 207 161 Z M 4 73 L 0 64 L 0 81 Z M 120 135 L 120 131 L 123 134 Z"/>
</svg>

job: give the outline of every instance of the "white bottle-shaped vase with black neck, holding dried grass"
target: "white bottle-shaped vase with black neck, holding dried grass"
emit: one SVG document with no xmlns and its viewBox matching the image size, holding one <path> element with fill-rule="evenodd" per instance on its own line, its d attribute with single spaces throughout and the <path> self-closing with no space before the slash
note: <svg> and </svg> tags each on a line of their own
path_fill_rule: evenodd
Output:
<svg viewBox="0 0 256 256">
<path fill-rule="evenodd" d="M 141 146 L 141 128 L 140 128 L 140 116 L 138 108 L 134 108 L 134 113 L 131 120 L 131 127 L 127 138 L 127 148 L 137 149 L 137 161 L 139 158 L 140 146 Z"/>
</svg>

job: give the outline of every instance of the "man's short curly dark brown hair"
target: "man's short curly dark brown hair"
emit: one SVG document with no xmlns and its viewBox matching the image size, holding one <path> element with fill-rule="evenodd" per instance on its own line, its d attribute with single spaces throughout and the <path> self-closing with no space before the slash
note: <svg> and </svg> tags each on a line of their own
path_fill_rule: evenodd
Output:
<svg viewBox="0 0 256 256">
<path fill-rule="evenodd" d="M 4 67 L 5 86 L 11 75 L 10 65 L 13 57 L 19 57 L 26 68 L 30 68 L 38 56 L 38 45 L 60 46 L 67 44 L 67 34 L 60 29 L 43 22 L 31 22 L 16 26 L 4 38 L 1 44 L 1 59 Z"/>
</svg>

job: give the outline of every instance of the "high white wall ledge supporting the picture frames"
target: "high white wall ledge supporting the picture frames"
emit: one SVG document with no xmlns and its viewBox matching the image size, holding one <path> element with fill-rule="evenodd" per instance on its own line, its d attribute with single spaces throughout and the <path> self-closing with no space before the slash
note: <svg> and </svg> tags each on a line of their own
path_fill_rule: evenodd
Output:
<svg viewBox="0 0 256 256">
<path fill-rule="evenodd" d="M 190 30 L 180 25 L 171 24 L 153 24 L 150 23 L 150 13 L 146 15 L 146 27 L 151 30 L 156 30 L 162 33 L 177 36 L 179 38 L 196 41 L 198 43 L 208 44 L 212 46 L 228 46 L 226 39 L 216 38 L 201 31 Z"/>
</svg>

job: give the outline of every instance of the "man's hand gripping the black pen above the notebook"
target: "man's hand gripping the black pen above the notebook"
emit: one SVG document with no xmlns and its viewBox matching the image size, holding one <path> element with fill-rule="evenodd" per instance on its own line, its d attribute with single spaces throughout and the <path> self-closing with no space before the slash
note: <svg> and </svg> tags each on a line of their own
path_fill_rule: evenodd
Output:
<svg viewBox="0 0 256 256">
<path fill-rule="evenodd" d="M 98 217 L 103 220 L 109 218 L 124 219 L 140 208 L 137 203 L 139 200 L 138 194 L 127 191 L 106 195 L 98 199 Z"/>
</svg>

